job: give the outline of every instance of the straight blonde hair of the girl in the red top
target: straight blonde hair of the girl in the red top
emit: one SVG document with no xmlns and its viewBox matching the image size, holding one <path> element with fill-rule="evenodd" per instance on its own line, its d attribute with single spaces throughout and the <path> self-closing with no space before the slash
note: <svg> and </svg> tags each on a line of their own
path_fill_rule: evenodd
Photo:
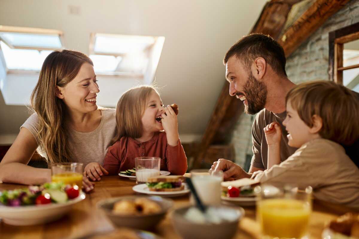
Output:
<svg viewBox="0 0 359 239">
<path fill-rule="evenodd" d="M 152 91 L 159 94 L 155 86 L 136 86 L 127 90 L 120 97 L 116 106 L 116 134 L 111 144 L 121 137 L 140 138 L 142 136 L 142 115 Z"/>
</svg>

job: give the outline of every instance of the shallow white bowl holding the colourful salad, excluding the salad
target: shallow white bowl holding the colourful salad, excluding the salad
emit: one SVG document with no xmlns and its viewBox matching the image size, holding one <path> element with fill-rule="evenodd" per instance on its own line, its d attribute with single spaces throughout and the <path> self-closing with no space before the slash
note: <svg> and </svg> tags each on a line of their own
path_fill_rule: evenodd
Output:
<svg viewBox="0 0 359 239">
<path fill-rule="evenodd" d="M 0 218 L 4 223 L 15 226 L 28 226 L 55 221 L 71 210 L 71 207 L 85 199 L 85 193 L 65 203 L 50 203 L 32 206 L 0 206 Z"/>
</svg>

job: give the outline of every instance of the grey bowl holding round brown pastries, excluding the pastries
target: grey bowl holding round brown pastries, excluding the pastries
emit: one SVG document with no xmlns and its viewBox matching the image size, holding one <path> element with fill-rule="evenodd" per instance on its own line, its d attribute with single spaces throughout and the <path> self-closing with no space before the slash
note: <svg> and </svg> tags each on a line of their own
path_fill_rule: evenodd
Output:
<svg viewBox="0 0 359 239">
<path fill-rule="evenodd" d="M 123 215 L 113 212 L 113 205 L 121 200 L 135 201 L 138 198 L 145 198 L 157 203 L 160 206 L 160 211 L 153 214 L 132 214 Z M 151 230 L 164 218 L 168 209 L 173 205 L 170 199 L 164 199 L 159 196 L 123 196 L 101 200 L 97 203 L 97 207 L 101 209 L 106 216 L 116 226 L 130 227 L 142 230 Z"/>
</svg>

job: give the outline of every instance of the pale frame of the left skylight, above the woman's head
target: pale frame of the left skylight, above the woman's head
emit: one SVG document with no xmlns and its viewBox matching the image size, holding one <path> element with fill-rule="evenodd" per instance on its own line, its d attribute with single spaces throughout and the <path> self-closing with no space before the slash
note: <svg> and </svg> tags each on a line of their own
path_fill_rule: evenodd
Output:
<svg viewBox="0 0 359 239">
<path fill-rule="evenodd" d="M 11 33 L 28 33 L 28 34 L 38 34 L 38 35 L 58 35 L 60 38 L 61 48 L 46 48 L 46 47 L 21 47 L 21 46 L 13 46 L 6 40 L 1 39 L 6 45 L 8 45 L 12 49 L 29 49 L 29 50 L 37 50 L 37 51 L 55 51 L 58 49 L 64 49 L 64 33 L 60 30 L 56 29 L 45 29 L 45 28 L 30 28 L 30 27 L 13 27 L 13 26 L 4 26 L 0 25 L 0 32 L 11 32 Z M 4 62 L 5 71 L 8 74 L 37 74 L 39 70 L 10 70 L 6 66 L 6 62 L 1 50 L 0 46 L 0 57 Z"/>
</svg>

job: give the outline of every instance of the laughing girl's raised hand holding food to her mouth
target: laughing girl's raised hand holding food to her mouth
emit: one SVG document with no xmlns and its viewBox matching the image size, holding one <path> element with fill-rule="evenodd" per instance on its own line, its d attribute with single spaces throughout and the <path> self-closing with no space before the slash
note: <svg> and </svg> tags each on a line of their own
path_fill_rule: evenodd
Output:
<svg viewBox="0 0 359 239">
<path fill-rule="evenodd" d="M 165 114 L 162 114 L 161 122 L 167 135 L 167 143 L 171 146 L 176 146 L 179 139 L 177 115 L 170 105 L 167 105 L 164 111 Z"/>
</svg>

